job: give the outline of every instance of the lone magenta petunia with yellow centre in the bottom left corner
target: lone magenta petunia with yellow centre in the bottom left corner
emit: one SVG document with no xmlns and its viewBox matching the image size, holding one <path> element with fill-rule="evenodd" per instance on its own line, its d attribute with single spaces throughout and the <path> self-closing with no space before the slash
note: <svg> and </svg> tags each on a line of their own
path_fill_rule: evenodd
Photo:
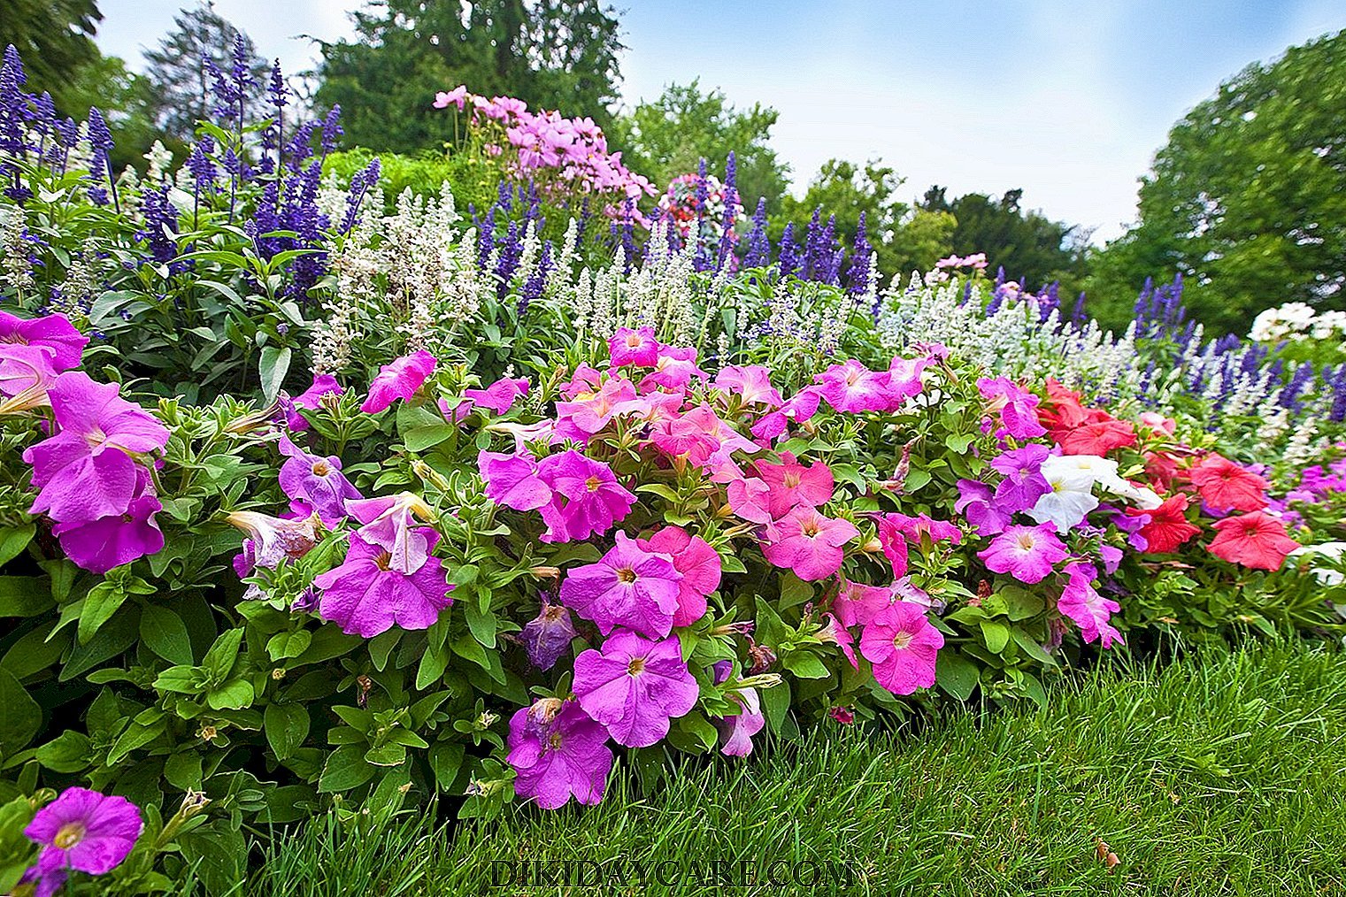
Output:
<svg viewBox="0 0 1346 897">
<path fill-rule="evenodd" d="M 39 810 L 23 834 L 42 845 L 40 875 L 70 869 L 102 875 L 121 865 L 144 827 L 125 797 L 75 787 Z"/>
</svg>

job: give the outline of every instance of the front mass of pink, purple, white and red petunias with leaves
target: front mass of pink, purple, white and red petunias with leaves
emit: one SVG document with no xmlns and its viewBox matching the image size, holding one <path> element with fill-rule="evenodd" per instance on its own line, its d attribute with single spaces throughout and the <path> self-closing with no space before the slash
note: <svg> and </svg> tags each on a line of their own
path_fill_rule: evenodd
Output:
<svg viewBox="0 0 1346 897">
<path fill-rule="evenodd" d="M 618 328 L 536 379 L 417 351 L 194 407 L 93 379 L 61 316 L 15 332 L 7 796 L 195 795 L 218 838 L 180 854 L 226 866 L 240 824 L 327 802 L 595 803 L 668 749 L 1044 701 L 1088 651 L 1205 624 L 1156 569 L 1228 588 L 1296 547 L 1172 421 L 940 344 L 781 379 Z M 1337 625 L 1291 611 L 1238 613 Z"/>
</svg>

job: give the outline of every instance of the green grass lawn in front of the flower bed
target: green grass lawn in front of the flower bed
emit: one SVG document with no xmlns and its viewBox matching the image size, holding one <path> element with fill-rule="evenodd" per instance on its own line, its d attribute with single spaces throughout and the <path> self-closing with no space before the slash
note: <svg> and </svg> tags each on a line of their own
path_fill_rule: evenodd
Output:
<svg viewBox="0 0 1346 897">
<path fill-rule="evenodd" d="M 252 894 L 1346 894 L 1346 654 L 1298 644 L 1078 676 L 1046 710 L 836 725 L 595 808 L 280 839 Z M 1116 853 L 1109 871 L 1097 841 Z M 491 886 L 493 861 L 660 863 L 642 884 Z M 845 865 L 849 888 L 721 890 L 689 863 Z M 785 874 L 785 866 L 778 866 Z M 517 871 L 517 870 L 516 870 Z M 584 873 L 592 875 L 592 871 Z M 591 881 L 592 878 L 586 878 Z"/>
</svg>

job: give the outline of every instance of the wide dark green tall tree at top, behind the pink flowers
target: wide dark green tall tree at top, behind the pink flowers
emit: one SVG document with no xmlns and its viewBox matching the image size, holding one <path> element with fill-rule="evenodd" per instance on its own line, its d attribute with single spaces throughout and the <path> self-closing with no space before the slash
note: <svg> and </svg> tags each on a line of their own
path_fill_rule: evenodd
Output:
<svg viewBox="0 0 1346 897">
<path fill-rule="evenodd" d="M 353 19 L 355 40 L 322 43 L 315 95 L 341 105 L 349 143 L 413 152 L 452 139 L 454 117 L 431 102 L 459 83 L 611 125 L 623 47 L 602 0 L 370 0 Z"/>
</svg>

